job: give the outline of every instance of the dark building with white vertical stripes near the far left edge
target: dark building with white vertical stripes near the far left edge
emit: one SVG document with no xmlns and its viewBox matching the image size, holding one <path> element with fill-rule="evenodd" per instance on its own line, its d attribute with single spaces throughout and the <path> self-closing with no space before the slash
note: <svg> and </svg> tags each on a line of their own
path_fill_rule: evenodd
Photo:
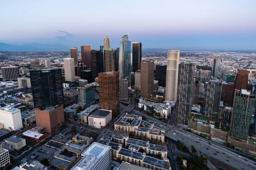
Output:
<svg viewBox="0 0 256 170">
<path fill-rule="evenodd" d="M 1 67 L 3 81 L 6 80 L 17 80 L 19 77 L 19 68 L 16 66 L 11 67 Z"/>
</svg>

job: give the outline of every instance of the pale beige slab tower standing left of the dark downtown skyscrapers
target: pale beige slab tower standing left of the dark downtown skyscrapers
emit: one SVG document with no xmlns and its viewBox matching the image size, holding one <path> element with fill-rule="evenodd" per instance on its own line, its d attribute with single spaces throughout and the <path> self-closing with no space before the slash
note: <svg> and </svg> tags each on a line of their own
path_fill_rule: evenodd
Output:
<svg viewBox="0 0 256 170">
<path fill-rule="evenodd" d="M 64 71 L 65 71 L 65 80 L 67 82 L 75 82 L 75 63 L 73 58 L 64 59 Z"/>
</svg>

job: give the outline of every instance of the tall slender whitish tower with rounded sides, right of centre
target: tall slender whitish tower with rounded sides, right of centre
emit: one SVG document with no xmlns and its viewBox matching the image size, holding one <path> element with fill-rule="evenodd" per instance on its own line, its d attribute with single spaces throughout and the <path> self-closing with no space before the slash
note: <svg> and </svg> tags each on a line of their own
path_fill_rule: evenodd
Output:
<svg viewBox="0 0 256 170">
<path fill-rule="evenodd" d="M 166 70 L 166 101 L 176 103 L 180 50 L 168 50 Z"/>
</svg>

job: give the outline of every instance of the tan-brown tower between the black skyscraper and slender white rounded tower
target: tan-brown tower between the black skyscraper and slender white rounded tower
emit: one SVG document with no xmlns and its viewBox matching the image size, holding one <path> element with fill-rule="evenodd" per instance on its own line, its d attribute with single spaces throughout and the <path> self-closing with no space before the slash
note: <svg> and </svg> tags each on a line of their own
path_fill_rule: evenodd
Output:
<svg viewBox="0 0 256 170">
<path fill-rule="evenodd" d="M 154 90 L 154 61 L 144 60 L 140 63 L 140 96 L 148 98 Z"/>
</svg>

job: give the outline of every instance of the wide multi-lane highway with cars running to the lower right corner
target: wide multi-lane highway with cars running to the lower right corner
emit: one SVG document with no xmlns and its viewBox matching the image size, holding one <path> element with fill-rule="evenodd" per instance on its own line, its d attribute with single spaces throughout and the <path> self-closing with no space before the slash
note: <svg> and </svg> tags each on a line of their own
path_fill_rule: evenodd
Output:
<svg viewBox="0 0 256 170">
<path fill-rule="evenodd" d="M 161 122 L 157 119 L 154 119 L 151 116 L 146 115 L 140 111 L 133 110 L 132 113 L 136 113 L 140 116 L 146 116 L 147 119 L 157 122 L 157 124 L 161 125 L 162 128 L 165 126 L 165 136 L 173 139 L 175 141 L 180 140 L 184 145 L 188 148 L 191 145 L 194 145 L 197 150 L 197 154 L 204 154 L 205 156 L 211 156 L 215 159 L 218 159 L 224 164 L 228 164 L 238 170 L 254 170 L 256 169 L 256 161 L 252 161 L 250 159 L 244 158 L 220 144 L 216 144 L 215 142 L 211 142 L 208 139 L 204 139 L 200 136 L 197 136 L 193 133 L 186 132 L 184 130 L 180 130 L 172 125 L 167 125 L 164 122 Z M 174 135 L 173 133 L 176 133 Z"/>
</svg>

